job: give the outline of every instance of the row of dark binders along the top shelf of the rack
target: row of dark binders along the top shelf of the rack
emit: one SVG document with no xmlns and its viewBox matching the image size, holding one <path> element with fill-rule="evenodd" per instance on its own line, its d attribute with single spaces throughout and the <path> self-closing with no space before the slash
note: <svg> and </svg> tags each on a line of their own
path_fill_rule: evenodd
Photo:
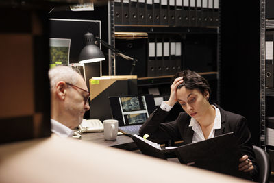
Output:
<svg viewBox="0 0 274 183">
<path fill-rule="evenodd" d="M 218 27 L 219 0 L 114 0 L 115 25 Z"/>
</svg>

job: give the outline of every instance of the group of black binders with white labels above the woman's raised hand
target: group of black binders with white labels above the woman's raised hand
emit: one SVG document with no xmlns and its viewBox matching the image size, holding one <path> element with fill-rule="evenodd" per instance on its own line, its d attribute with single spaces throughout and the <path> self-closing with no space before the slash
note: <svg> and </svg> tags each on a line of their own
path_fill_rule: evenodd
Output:
<svg viewBox="0 0 274 183">
<path fill-rule="evenodd" d="M 172 36 L 149 36 L 147 77 L 175 75 L 182 66 L 181 38 Z"/>
</svg>

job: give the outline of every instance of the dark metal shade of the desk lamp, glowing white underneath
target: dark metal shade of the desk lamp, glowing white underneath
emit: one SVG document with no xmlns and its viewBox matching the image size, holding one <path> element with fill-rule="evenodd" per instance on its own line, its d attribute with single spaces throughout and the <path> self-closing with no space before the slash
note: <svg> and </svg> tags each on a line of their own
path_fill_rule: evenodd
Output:
<svg viewBox="0 0 274 183">
<path fill-rule="evenodd" d="M 79 55 L 79 63 L 91 63 L 105 60 L 103 52 L 94 43 L 94 36 L 87 32 L 85 35 L 86 46 L 82 49 Z"/>
</svg>

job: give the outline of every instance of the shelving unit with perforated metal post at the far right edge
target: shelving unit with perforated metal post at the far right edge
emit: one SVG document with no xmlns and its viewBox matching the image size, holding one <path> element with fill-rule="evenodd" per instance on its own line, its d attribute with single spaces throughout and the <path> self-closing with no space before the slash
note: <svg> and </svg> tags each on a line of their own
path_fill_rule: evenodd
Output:
<svg viewBox="0 0 274 183">
<path fill-rule="evenodd" d="M 272 1 L 273 2 L 273 1 Z M 266 2 L 266 0 L 260 0 L 260 74 L 261 74 L 261 93 L 260 93 L 260 145 L 261 147 L 269 153 L 271 160 L 271 178 L 274 180 L 274 145 L 272 141 L 272 125 L 268 121 L 269 117 L 274 116 L 273 103 L 274 103 L 274 88 L 269 87 L 269 64 L 266 64 L 266 60 L 269 61 L 269 56 L 266 56 L 266 41 L 269 41 L 266 37 L 268 32 L 273 32 L 274 29 L 274 17 L 269 17 L 273 14 L 273 8 L 267 7 L 271 5 L 271 1 Z M 269 11 L 269 12 L 266 12 Z M 273 54 L 273 53 L 272 53 Z M 266 67 L 266 65 L 268 67 Z M 273 65 L 271 65 L 273 66 Z M 273 73 L 271 73 L 271 77 Z M 266 82 L 268 80 L 268 82 Z"/>
</svg>

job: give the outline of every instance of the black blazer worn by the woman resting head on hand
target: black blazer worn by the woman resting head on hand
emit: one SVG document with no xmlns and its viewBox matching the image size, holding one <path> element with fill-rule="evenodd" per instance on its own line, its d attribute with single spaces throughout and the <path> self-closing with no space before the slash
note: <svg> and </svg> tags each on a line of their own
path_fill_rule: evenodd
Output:
<svg viewBox="0 0 274 183">
<path fill-rule="evenodd" d="M 214 136 L 234 132 L 242 155 L 247 154 L 253 163 L 254 170 L 251 174 L 252 178 L 256 179 L 258 164 L 251 144 L 251 133 L 247 127 L 247 120 L 239 114 L 223 110 L 215 103 L 213 105 L 219 108 L 221 113 L 221 129 L 216 129 Z M 186 112 L 180 112 L 175 121 L 162 123 L 168 114 L 169 112 L 158 107 L 140 128 L 140 135 L 149 134 L 149 140 L 156 142 L 183 140 L 185 144 L 192 143 L 194 131 L 188 126 L 191 117 Z"/>
</svg>

